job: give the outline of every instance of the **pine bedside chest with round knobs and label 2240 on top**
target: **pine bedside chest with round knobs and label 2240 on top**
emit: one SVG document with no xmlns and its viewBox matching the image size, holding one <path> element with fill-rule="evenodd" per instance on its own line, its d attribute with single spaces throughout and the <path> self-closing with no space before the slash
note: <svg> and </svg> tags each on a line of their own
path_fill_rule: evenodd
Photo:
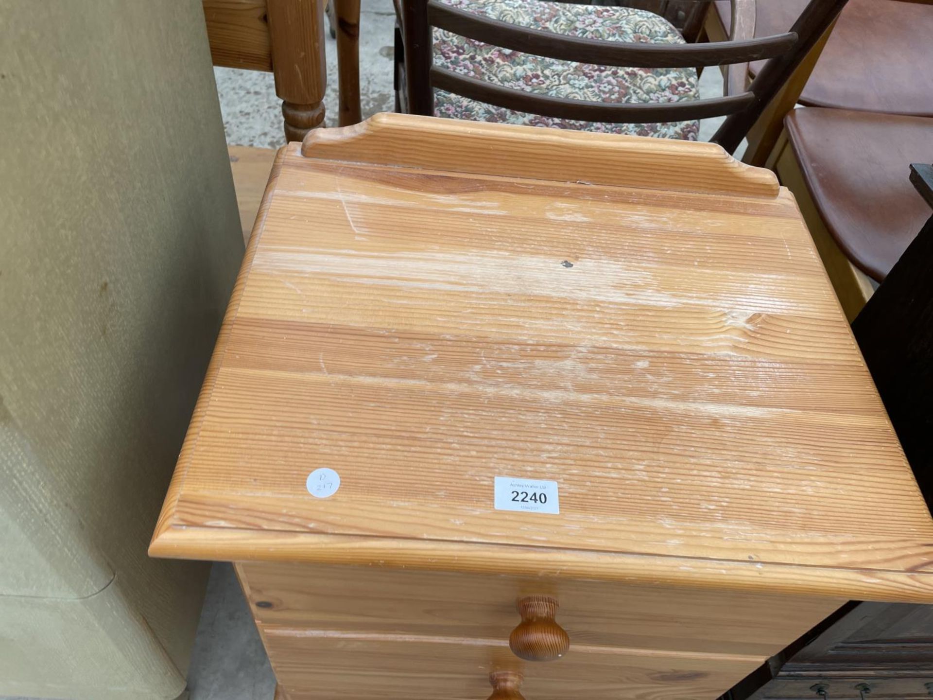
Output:
<svg viewBox="0 0 933 700">
<path fill-rule="evenodd" d="M 150 553 L 235 563 L 288 700 L 713 700 L 933 601 L 771 173 L 400 115 L 280 152 Z"/>
</svg>

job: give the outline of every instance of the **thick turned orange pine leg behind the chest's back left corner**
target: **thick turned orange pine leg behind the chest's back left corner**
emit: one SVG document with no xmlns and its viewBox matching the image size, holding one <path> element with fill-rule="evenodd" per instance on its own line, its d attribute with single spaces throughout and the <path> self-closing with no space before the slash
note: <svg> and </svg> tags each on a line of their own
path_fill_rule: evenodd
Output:
<svg viewBox="0 0 933 700">
<path fill-rule="evenodd" d="M 324 0 L 268 0 L 267 8 L 285 138 L 300 141 L 324 123 Z"/>
</svg>

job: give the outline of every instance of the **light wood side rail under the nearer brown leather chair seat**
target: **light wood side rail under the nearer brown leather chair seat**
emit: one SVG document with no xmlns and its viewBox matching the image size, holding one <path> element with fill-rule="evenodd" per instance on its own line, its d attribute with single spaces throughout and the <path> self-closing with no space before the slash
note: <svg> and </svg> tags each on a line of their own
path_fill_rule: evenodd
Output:
<svg viewBox="0 0 933 700">
<path fill-rule="evenodd" d="M 832 283 L 836 296 L 839 297 L 842 311 L 851 322 L 865 306 L 866 301 L 871 298 L 875 289 L 874 284 L 867 274 L 856 268 L 845 257 L 826 228 L 803 180 L 801 166 L 794 155 L 794 149 L 787 142 L 786 133 L 781 133 L 778 137 L 777 145 L 766 164 L 777 174 L 781 184 L 794 193 L 797 205 L 801 208 L 803 220 L 814 240 L 816 252 L 823 260 L 823 266 L 829 275 L 829 282 Z"/>
</svg>

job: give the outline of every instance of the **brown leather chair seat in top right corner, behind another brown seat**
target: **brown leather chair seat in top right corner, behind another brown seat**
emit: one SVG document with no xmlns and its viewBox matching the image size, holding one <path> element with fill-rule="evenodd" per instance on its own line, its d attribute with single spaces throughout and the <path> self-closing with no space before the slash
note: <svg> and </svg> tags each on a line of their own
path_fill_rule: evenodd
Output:
<svg viewBox="0 0 933 700">
<path fill-rule="evenodd" d="M 807 0 L 758 0 L 755 35 L 787 32 Z M 729 0 L 717 0 L 728 33 Z M 763 62 L 752 63 L 757 75 Z M 933 117 L 933 5 L 849 0 L 842 10 L 802 105 Z"/>
</svg>

